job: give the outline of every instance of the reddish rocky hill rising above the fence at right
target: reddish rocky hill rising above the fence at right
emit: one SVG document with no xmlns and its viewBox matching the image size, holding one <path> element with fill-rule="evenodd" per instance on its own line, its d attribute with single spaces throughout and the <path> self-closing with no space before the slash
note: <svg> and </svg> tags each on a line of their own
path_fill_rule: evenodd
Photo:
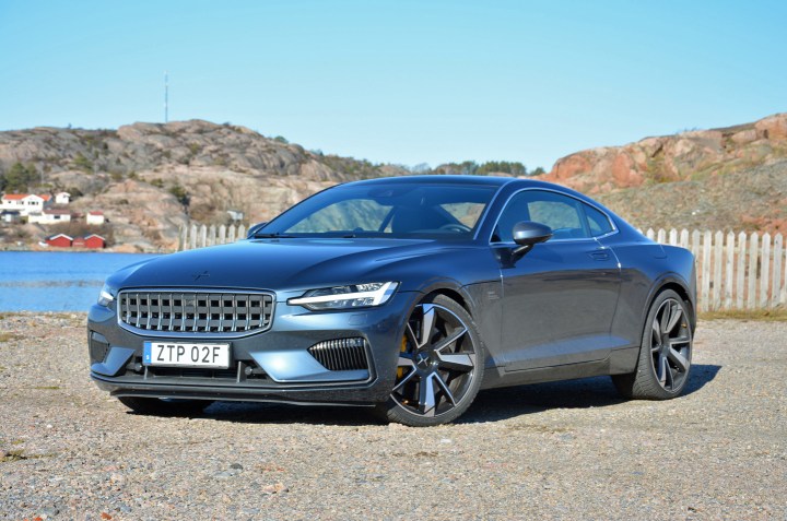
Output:
<svg viewBox="0 0 787 521">
<path fill-rule="evenodd" d="M 577 152 L 541 178 L 643 228 L 787 234 L 787 114 Z"/>
</svg>

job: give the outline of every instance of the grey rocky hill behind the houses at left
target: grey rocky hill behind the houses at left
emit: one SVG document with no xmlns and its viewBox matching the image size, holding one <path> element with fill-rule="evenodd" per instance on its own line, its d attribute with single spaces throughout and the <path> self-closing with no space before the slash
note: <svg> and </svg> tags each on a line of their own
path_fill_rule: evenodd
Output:
<svg viewBox="0 0 787 521">
<path fill-rule="evenodd" d="M 406 173 L 199 120 L 0 132 L 0 174 L 17 164 L 35 173 L 28 190 L 78 196 L 72 211 L 103 210 L 115 241 L 144 251 L 173 248 L 189 218 L 223 224 L 233 210 L 246 223 L 267 221 L 337 182 Z M 25 234 L 40 240 L 51 230 L 4 232 L 8 242 Z"/>
</svg>

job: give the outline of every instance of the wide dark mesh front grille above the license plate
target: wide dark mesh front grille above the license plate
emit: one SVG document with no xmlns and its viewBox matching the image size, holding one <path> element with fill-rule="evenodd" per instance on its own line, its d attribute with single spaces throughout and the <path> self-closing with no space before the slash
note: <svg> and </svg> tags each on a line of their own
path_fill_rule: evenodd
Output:
<svg viewBox="0 0 787 521">
<path fill-rule="evenodd" d="M 118 317 L 144 331 L 243 333 L 268 329 L 273 296 L 266 293 L 128 291 Z"/>
</svg>

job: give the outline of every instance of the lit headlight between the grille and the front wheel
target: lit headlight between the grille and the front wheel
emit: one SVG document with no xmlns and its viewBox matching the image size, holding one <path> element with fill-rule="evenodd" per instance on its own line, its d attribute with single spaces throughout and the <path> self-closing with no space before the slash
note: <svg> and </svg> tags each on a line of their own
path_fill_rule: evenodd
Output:
<svg viewBox="0 0 787 521">
<path fill-rule="evenodd" d="M 398 282 L 373 282 L 324 287 L 306 292 L 302 297 L 291 298 L 287 304 L 303 306 L 313 311 L 380 306 L 390 299 L 398 286 Z"/>
</svg>

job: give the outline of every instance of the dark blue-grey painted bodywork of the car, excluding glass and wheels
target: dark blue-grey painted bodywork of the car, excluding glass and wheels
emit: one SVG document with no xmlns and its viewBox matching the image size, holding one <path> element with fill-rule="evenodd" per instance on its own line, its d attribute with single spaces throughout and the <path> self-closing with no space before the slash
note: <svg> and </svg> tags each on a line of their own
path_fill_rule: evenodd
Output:
<svg viewBox="0 0 787 521">
<path fill-rule="evenodd" d="M 235 358 L 270 350 L 303 352 L 336 336 L 369 341 L 372 369 L 364 375 L 312 375 L 216 384 L 177 378 L 116 376 L 141 354 L 139 335 L 115 312 L 93 306 L 89 330 L 103 335 L 107 360 L 92 359 L 91 376 L 116 395 L 364 404 L 387 399 L 396 378 L 399 339 L 412 308 L 433 292 L 446 293 L 473 316 L 488 352 L 484 387 L 579 378 L 633 370 L 649 303 L 659 288 L 679 289 L 694 309 L 694 261 L 681 248 L 661 247 L 588 198 L 532 180 L 412 177 L 402 182 L 483 182 L 498 187 L 472 240 L 251 239 L 129 267 L 111 275 L 115 289 L 200 287 L 270 291 L 277 295 L 270 331 L 232 340 Z M 380 182 L 379 180 L 360 182 Z M 560 191 L 603 210 L 615 233 L 600 239 L 547 241 L 516 261 L 516 245 L 490 245 L 496 216 L 521 189 Z M 195 273 L 209 273 L 195 282 Z M 395 298 L 379 308 L 310 312 L 286 305 L 315 287 L 398 281 Z M 693 312 L 691 317 L 694 321 Z M 177 335 L 168 335 L 177 340 Z M 205 340 L 210 340 L 205 335 Z M 107 367 L 109 359 L 117 367 Z M 113 374 L 114 371 L 114 374 Z M 331 371 L 327 371 L 331 372 Z M 344 371 L 334 371 L 344 372 Z"/>
</svg>

